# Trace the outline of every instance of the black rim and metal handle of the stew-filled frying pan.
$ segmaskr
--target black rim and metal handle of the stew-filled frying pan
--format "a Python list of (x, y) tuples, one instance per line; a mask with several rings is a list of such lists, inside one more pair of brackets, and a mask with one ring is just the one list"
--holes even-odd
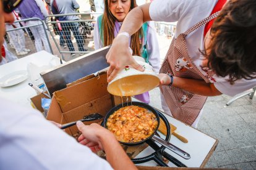
[(142, 102), (123, 103), (123, 104), (117, 105), (116, 107), (113, 107), (111, 110), (108, 111), (108, 113), (106, 114), (106, 116), (103, 120), (103, 126), (106, 129), (108, 129), (108, 126), (106, 126), (106, 123), (108, 121), (109, 116), (112, 115), (115, 111), (119, 110), (119, 108), (122, 108), (123, 105), (124, 106), (135, 105), (135, 106), (143, 107), (143, 108), (146, 108), (147, 110), (150, 110), (156, 116), (156, 120), (158, 121), (158, 125), (156, 126), (156, 129), (153, 132), (153, 134), (151, 134), (151, 136), (149, 136), (147, 139), (141, 140), (139, 142), (131, 142), (131, 143), (119, 141), (121, 144), (124, 144), (124, 145), (140, 145), (140, 144), (143, 144), (144, 142), (147, 142), (147, 140), (152, 139), (155, 142), (158, 142), (159, 144), (168, 148), (172, 152), (176, 153), (177, 155), (181, 156), (182, 158), (184, 158), (186, 160), (190, 159), (189, 153), (184, 152), (180, 148), (177, 148), (173, 144), (170, 144), (168, 141), (166, 141), (166, 140), (164, 140), (161, 137), (156, 135), (157, 134), (156, 131), (157, 131), (159, 125), (160, 125), (160, 117), (159, 117), (158, 113), (156, 112), (156, 110), (154, 108), (152, 108), (150, 105), (146, 104), (146, 103), (142, 103)]

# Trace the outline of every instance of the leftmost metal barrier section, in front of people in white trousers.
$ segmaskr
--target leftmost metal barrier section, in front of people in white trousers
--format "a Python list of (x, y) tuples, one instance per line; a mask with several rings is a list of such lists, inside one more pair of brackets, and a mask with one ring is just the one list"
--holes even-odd
[(43, 49), (53, 54), (45, 23), (40, 18), (17, 20), (11, 25), (6, 23), (6, 33), (8, 50), (17, 57), (25, 57)]

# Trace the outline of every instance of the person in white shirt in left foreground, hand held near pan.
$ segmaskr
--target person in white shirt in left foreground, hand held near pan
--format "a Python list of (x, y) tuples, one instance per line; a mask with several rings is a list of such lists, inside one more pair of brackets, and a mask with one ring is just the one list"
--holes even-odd
[[(0, 46), (4, 22), (14, 22), (10, 13), (20, 1), (6, 2), (0, 0)], [(0, 108), (0, 169), (136, 169), (114, 134), (99, 124), (78, 121), (79, 144), (39, 111), (2, 98)], [(99, 149), (106, 160), (93, 153)]]

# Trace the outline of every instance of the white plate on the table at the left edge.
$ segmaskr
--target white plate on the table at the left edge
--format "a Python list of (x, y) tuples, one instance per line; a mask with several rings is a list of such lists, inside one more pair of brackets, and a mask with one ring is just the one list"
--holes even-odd
[(28, 78), (26, 70), (14, 71), (0, 78), (0, 87), (9, 87), (19, 84)]

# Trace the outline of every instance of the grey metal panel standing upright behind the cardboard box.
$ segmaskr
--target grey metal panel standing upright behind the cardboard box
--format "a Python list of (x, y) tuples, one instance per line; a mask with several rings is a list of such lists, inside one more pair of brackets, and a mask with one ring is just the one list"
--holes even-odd
[(109, 67), (106, 62), (109, 48), (110, 46), (98, 49), (40, 73), (49, 94), (53, 96), (53, 92), (66, 88), (66, 84)]

